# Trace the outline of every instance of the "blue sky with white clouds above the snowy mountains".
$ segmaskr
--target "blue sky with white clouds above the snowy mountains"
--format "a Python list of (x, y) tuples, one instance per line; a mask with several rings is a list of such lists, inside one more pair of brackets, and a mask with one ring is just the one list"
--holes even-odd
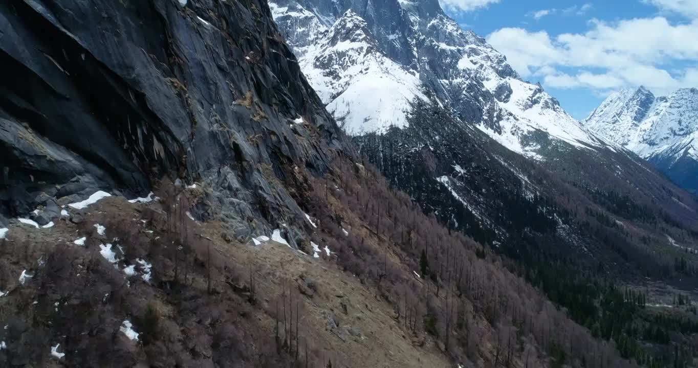
[(612, 91), (698, 87), (698, 0), (440, 0), (575, 118)]

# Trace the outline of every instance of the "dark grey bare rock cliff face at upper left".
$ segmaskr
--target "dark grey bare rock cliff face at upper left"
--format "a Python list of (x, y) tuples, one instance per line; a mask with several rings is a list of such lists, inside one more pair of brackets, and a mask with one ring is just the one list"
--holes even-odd
[(342, 144), (268, 9), (1, 3), (0, 213), (27, 213), (41, 193), (143, 193), (163, 174), (210, 184), (231, 219), (260, 202), (269, 222), (297, 212), (279, 182), (323, 171)]

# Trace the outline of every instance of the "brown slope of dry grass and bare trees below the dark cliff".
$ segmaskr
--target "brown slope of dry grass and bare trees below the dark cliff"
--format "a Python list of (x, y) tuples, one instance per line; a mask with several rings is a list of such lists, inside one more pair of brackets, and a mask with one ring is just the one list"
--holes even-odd
[[(200, 193), (168, 181), (158, 202), (111, 197), (77, 225), (12, 227), (1, 248), (0, 290), (8, 294), (0, 298), (0, 323), (8, 330), (0, 339), (8, 347), (0, 360), (73, 367), (630, 366), (489, 250), (422, 215), (372, 167), (337, 158), (325, 178), (303, 176), (297, 200), (317, 219), (311, 238), (332, 250), (322, 259), (274, 242), (224, 240), (223, 224), (187, 215)], [(72, 243), (81, 236), (84, 247)], [(116, 267), (100, 254), (106, 243), (114, 244)], [(131, 265), (142, 272), (138, 259), (152, 264), (149, 281), (124, 274)], [(20, 285), (24, 269), (34, 277)], [(137, 342), (119, 330), (126, 319), (141, 334)], [(64, 358), (50, 355), (55, 344)]]

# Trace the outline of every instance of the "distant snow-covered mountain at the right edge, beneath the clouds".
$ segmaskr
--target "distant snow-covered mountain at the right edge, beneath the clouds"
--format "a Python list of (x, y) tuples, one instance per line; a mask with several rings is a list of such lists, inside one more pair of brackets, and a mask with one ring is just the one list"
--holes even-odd
[(610, 95), (584, 121), (589, 130), (655, 164), (678, 185), (698, 191), (698, 90), (655, 97), (640, 87)]

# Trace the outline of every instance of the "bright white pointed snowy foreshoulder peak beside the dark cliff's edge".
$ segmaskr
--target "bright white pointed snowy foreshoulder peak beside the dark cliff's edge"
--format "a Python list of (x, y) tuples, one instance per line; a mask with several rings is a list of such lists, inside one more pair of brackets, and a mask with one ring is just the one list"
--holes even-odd
[[(293, 23), (288, 13), (279, 17)], [(389, 58), (369, 23), (351, 9), (313, 35), (312, 43), (296, 44), (304, 45), (295, 52), (306, 78), (350, 135), (404, 126), (410, 102), (424, 98), (417, 72)]]

